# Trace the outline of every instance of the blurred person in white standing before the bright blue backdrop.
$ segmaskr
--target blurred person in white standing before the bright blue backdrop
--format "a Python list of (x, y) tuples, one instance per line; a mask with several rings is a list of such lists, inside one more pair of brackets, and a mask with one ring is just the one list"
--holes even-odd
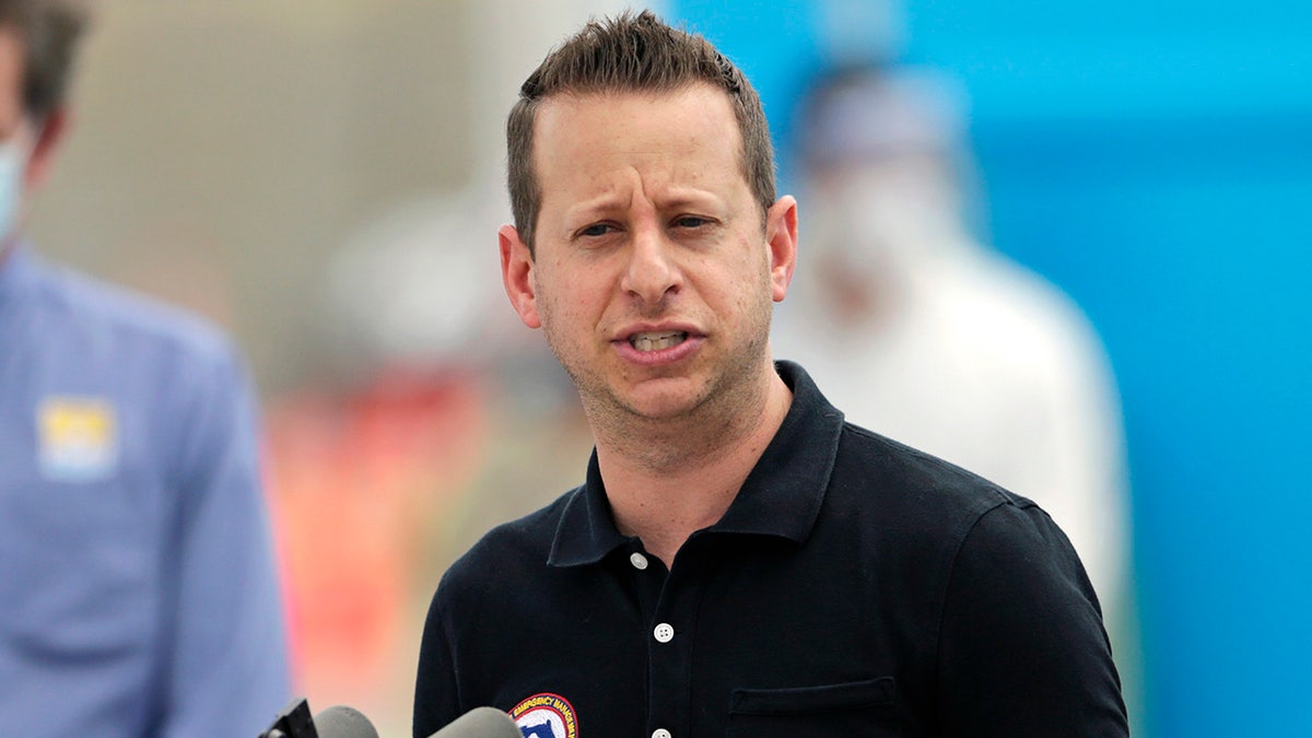
[(1130, 537), (1111, 372), (1064, 293), (972, 234), (963, 109), (949, 80), (909, 68), (845, 70), (808, 92), (808, 248), (777, 352), (850, 422), (1043, 506), (1115, 624)]

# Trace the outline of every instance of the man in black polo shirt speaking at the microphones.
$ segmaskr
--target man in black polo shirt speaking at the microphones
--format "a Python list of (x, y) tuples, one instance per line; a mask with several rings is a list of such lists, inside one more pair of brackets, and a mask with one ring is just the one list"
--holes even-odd
[(590, 22), (506, 131), (506, 294), (596, 450), (443, 576), (416, 738), (479, 705), (552, 738), (1127, 734), (1052, 520), (773, 360), (798, 204), (728, 59), (649, 13)]

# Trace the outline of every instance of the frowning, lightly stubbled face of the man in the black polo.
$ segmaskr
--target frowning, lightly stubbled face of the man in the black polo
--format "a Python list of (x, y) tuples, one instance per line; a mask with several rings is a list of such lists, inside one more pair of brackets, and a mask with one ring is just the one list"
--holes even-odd
[[(546, 102), (538, 123), (535, 306), (598, 443), (659, 467), (749, 433), (773, 378), (771, 256), (728, 97), (708, 85), (565, 97)], [(685, 215), (714, 223), (714, 235), (690, 236)], [(592, 223), (611, 235), (580, 246)], [(659, 299), (625, 286), (625, 274), (649, 274), (632, 271), (639, 238), (644, 259), (660, 260), (652, 268), (677, 272)], [(636, 324), (705, 335), (682, 360), (634, 364), (609, 341)]]

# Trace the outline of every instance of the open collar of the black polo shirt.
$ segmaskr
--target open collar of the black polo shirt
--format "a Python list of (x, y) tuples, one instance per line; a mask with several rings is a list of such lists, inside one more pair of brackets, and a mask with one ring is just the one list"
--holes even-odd
[[(792, 390), (779, 431), (743, 482), (724, 517), (707, 532), (777, 536), (802, 542), (815, 525), (829, 485), (842, 412), (829, 404), (802, 366), (777, 361)], [(597, 563), (632, 538), (615, 528), (593, 450), (584, 486), (565, 504), (551, 546), (551, 566)]]

